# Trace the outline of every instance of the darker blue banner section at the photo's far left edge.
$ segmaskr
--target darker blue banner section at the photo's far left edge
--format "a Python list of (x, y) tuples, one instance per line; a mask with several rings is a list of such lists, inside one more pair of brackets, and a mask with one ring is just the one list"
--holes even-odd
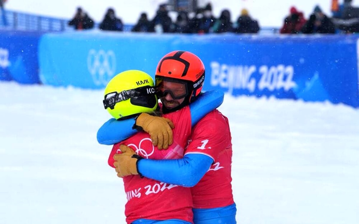
[(40, 83), (37, 50), (41, 35), (38, 32), (0, 31), (0, 80)]

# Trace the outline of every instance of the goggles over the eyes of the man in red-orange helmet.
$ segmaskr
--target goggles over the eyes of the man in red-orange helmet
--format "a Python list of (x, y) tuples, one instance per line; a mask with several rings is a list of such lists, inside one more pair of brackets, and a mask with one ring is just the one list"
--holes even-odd
[(156, 77), (155, 80), (158, 97), (165, 97), (170, 94), (172, 99), (182, 99), (188, 95), (186, 82), (162, 77)]

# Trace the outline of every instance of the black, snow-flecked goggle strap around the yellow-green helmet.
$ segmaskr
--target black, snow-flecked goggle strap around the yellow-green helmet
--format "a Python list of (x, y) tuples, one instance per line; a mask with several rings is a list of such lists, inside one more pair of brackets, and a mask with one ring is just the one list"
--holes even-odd
[(144, 96), (151, 96), (155, 95), (157, 90), (153, 86), (143, 86), (135, 89), (124, 90), (120, 93), (118, 92), (111, 92), (107, 93), (103, 100), (103, 106), (105, 109), (110, 108), (114, 109), (116, 103), (134, 98), (134, 97), (144, 97)]

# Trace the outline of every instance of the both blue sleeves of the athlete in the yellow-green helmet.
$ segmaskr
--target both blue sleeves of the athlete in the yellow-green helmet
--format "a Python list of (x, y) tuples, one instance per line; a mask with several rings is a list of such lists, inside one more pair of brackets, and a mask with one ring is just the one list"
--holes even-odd
[[(192, 126), (210, 111), (219, 107), (224, 98), (224, 93), (220, 90), (211, 90), (202, 93), (198, 99), (190, 104)], [(104, 123), (97, 131), (97, 141), (103, 145), (113, 145), (134, 135), (137, 130), (132, 129), (135, 124), (133, 119), (117, 121), (111, 118)]]

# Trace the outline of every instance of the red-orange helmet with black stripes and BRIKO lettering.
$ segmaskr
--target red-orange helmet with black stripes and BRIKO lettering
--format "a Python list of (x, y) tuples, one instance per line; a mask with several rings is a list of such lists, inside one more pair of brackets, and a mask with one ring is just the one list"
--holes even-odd
[[(186, 93), (184, 94), (177, 96), (171, 90), (166, 91), (171, 94), (173, 99), (186, 97), (180, 107), (195, 101), (201, 93), (204, 77), (205, 68), (201, 59), (191, 52), (181, 50), (164, 55), (157, 65), (155, 74), (156, 86), (159, 86), (162, 81), (185, 84)], [(159, 97), (161, 94), (163, 96), (164, 93), (159, 91)], [(175, 109), (177, 110), (179, 107)]]

